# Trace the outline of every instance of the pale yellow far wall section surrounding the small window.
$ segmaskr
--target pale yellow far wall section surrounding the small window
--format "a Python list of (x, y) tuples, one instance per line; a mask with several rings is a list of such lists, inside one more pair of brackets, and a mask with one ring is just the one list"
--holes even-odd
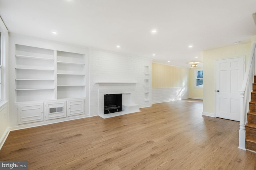
[(203, 89), (202, 88), (194, 88), (195, 86), (195, 80), (196, 80), (196, 73), (195, 70), (203, 69), (203, 67), (196, 67), (196, 68), (190, 68), (189, 69), (189, 97), (190, 98), (196, 98), (196, 99), (202, 99), (203, 98)]

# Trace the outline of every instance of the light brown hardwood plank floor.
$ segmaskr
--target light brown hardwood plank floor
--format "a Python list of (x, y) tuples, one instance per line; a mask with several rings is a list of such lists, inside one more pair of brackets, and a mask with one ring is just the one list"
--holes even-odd
[(256, 169), (256, 153), (238, 149), (239, 122), (202, 116), (201, 100), (140, 110), (11, 131), (0, 160), (29, 170)]

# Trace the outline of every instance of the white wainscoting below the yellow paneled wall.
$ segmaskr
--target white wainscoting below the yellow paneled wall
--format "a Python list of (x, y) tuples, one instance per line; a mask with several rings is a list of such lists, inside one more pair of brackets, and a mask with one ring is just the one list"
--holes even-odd
[(188, 87), (152, 88), (152, 104), (189, 98)]

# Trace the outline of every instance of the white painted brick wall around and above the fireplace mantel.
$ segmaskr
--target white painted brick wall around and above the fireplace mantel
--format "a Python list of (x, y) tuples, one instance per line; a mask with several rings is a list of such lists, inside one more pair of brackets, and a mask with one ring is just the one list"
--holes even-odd
[[(137, 82), (135, 104), (140, 107), (151, 106), (151, 60), (137, 56), (124, 55), (100, 49), (89, 49), (90, 63), (90, 116), (98, 115), (97, 82)], [(145, 66), (149, 76), (145, 76)], [(144, 79), (149, 78), (150, 101), (144, 101)]]

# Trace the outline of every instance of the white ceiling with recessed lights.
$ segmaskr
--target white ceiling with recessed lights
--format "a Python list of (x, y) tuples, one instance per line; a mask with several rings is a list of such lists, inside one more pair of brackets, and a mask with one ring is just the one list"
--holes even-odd
[(0, 0), (10, 33), (182, 67), (203, 62), (204, 50), (250, 41), (254, 12), (256, 0)]

